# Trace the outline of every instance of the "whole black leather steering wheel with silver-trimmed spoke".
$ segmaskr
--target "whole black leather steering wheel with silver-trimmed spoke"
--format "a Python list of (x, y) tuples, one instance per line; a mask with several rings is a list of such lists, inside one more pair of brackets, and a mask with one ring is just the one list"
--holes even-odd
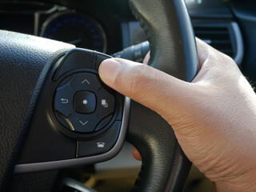
[[(191, 82), (198, 71), (198, 58), (185, 3), (181, 0), (130, 0), (130, 7), (150, 42), (149, 65)], [(70, 152), (74, 148), (80, 149), (74, 146), (76, 142), (70, 144), (75, 135), (69, 137), (65, 131), (63, 133), (55, 129), (54, 122), (49, 120), (50, 115), (41, 105), (42, 100), (52, 102), (48, 99), (51, 94), (45, 91), (46, 87), (48, 89), (56, 71), (59, 72), (58, 67), (62, 66), (60, 63), (63, 62), (64, 54), (64, 58), (73, 54), (72, 63), (87, 59), (87, 56), (84, 58), (81, 54), (88, 53), (96, 57), (98, 62), (108, 58), (94, 51), (72, 49), (74, 46), (63, 42), (0, 30), (1, 191), (10, 189), (14, 174), (78, 166), (111, 158), (121, 149), (125, 135), (126, 140), (142, 155), (142, 170), (135, 182), (134, 191), (182, 191), (190, 171), (190, 161), (178, 145), (174, 131), (160, 115), (137, 102), (129, 102), (129, 98), (125, 98), (118, 138), (114, 146), (106, 151), (106, 155), (92, 154), (81, 160), (75, 157), (75, 151)], [(69, 74), (69, 70), (67, 71)], [(69, 81), (66, 78), (62, 80)], [(52, 87), (48, 90), (51, 89)], [(38, 131), (32, 136), (31, 133), (34, 133), (37, 127), (42, 128), (46, 122), (48, 126), (44, 126), (42, 132)], [(127, 125), (129, 127), (126, 131)], [(58, 135), (57, 141), (53, 135)], [(102, 136), (99, 134), (97, 137)], [(64, 143), (62, 138), (70, 143)], [(27, 141), (30, 140), (34, 140), (35, 145), (28, 147)], [(46, 146), (48, 150), (44, 154), (34, 154), (34, 151)], [(102, 146), (103, 144), (98, 144), (98, 147)], [(58, 153), (48, 152), (54, 149), (65, 153), (62, 153), (60, 158)], [(76, 161), (70, 161), (68, 153), (72, 153)], [(53, 157), (54, 155), (56, 157)], [(26, 163), (20, 165), (20, 159), (25, 156), (27, 159), (34, 159), (27, 161), (29, 166), (26, 166)], [(48, 157), (55, 158), (57, 163), (42, 162)], [(37, 164), (37, 161), (41, 161), (41, 164)]]

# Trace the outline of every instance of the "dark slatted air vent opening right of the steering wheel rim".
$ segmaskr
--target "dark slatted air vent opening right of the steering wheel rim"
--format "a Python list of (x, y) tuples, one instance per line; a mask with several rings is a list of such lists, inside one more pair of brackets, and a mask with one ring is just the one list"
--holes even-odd
[(194, 34), (216, 50), (234, 58), (235, 51), (230, 39), (228, 27), (219, 26), (194, 26)]

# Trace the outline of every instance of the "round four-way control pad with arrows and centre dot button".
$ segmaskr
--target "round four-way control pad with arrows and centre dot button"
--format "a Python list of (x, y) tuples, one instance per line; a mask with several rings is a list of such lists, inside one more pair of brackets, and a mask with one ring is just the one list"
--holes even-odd
[(114, 118), (114, 91), (100, 81), (98, 74), (83, 71), (67, 75), (58, 83), (54, 111), (66, 130), (76, 134), (94, 134)]

